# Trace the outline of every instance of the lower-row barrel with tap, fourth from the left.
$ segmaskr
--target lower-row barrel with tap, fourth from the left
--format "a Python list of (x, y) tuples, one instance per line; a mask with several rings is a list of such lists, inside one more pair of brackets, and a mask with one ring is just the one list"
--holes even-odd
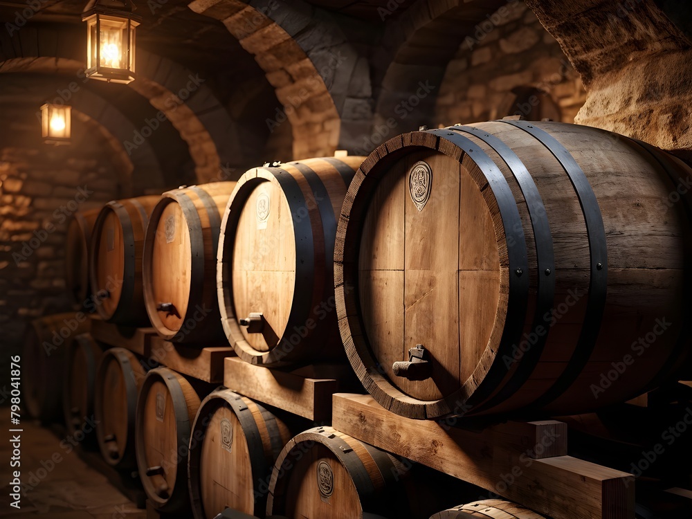
[(188, 445), (200, 399), (167, 367), (147, 373), (137, 401), (137, 466), (149, 501), (161, 512), (189, 513)]

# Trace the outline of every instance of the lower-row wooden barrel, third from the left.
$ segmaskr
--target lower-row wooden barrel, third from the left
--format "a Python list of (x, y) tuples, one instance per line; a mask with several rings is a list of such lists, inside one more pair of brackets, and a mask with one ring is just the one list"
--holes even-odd
[(145, 376), (140, 359), (125, 348), (107, 349), (96, 370), (96, 437), (104, 459), (118, 469), (137, 466), (134, 439), (137, 395)]

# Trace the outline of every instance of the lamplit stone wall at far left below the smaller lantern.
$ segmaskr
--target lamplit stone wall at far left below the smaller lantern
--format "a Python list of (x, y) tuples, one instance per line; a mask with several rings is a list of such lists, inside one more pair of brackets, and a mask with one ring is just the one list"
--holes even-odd
[(26, 120), (0, 142), (0, 370), (31, 320), (75, 308), (64, 275), (70, 216), (120, 197), (120, 163), (95, 126), (73, 118), (75, 142), (53, 146)]

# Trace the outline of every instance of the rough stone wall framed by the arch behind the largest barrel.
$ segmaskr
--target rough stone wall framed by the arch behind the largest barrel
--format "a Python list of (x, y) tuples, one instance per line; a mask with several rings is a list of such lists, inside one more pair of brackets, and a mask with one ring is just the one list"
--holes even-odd
[(574, 122), (586, 100), (579, 74), (523, 1), (510, 0), (476, 26), (449, 62), (435, 121), (502, 118)]

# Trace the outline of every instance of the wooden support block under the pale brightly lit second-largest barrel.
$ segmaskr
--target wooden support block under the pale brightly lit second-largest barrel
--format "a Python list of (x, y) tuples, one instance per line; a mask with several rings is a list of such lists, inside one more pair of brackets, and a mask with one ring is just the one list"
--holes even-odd
[(316, 422), (331, 420), (331, 395), (353, 377), (345, 365), (311, 365), (289, 373), (238, 357), (226, 358), (225, 368), (226, 388)]

